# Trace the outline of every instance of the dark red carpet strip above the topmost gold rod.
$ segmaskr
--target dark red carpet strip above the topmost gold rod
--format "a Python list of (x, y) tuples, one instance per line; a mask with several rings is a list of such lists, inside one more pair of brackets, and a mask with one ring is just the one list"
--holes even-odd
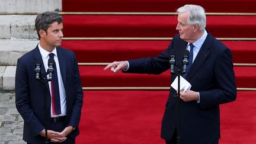
[(207, 12), (256, 12), (254, 0), (62, 0), (62, 9), (87, 12), (175, 12), (185, 4), (197, 4)]

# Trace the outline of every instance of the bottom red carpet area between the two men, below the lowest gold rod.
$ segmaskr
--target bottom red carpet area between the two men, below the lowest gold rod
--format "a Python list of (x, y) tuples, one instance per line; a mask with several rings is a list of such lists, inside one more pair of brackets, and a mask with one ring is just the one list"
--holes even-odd
[(162, 143), (168, 91), (85, 91), (77, 143)]

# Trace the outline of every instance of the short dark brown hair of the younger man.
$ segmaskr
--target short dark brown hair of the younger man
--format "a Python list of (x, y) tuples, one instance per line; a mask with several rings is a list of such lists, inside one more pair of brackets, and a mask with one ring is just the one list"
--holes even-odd
[(63, 18), (56, 12), (46, 11), (43, 14), (37, 15), (35, 20), (35, 26), (36, 26), (37, 35), (39, 36), (39, 40), (41, 38), (39, 34), (39, 30), (44, 30), (46, 31), (46, 34), (47, 34), (47, 29), (50, 27), (52, 23), (55, 23), (56, 21), (58, 24), (62, 23), (63, 21)]

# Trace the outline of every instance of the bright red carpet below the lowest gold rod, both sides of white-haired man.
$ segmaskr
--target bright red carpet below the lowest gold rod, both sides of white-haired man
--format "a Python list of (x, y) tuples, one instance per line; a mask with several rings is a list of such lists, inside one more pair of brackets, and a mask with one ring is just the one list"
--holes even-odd
[[(78, 144), (156, 144), (168, 91), (84, 91)], [(256, 142), (256, 92), (220, 107), (220, 144)]]

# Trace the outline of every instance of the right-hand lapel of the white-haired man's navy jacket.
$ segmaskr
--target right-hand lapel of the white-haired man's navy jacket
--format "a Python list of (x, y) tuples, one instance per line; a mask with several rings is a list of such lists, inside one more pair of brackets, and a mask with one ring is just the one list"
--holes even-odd
[(209, 49), (212, 46), (212, 39), (212, 36), (210, 36), (210, 34), (208, 33), (206, 40), (201, 46), (199, 53), (197, 53), (196, 59), (194, 60), (190, 71), (188, 72), (188, 80), (190, 80), (190, 78), (194, 75), (194, 73), (196, 73), (197, 69), (199, 69), (200, 65), (204, 62), (204, 60), (206, 60), (206, 58), (210, 55)]

